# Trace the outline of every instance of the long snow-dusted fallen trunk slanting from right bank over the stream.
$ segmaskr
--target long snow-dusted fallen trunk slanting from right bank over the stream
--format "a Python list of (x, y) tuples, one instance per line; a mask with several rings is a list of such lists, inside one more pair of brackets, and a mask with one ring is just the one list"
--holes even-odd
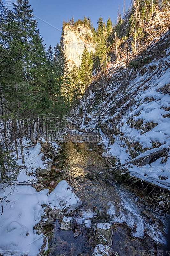
[[(156, 148), (154, 148), (154, 149), (156, 149)], [(142, 156), (139, 155), (139, 156), (135, 157), (134, 159), (131, 159), (131, 160), (125, 162), (124, 164), (120, 164), (120, 165), (118, 165), (118, 166), (112, 167), (111, 169), (109, 169), (109, 170), (107, 170), (107, 171), (105, 171), (105, 172), (113, 171), (113, 170), (115, 170), (115, 169), (117, 169), (117, 168), (120, 168), (120, 167), (126, 165), (126, 164), (130, 164), (130, 163), (133, 163), (133, 162), (142, 160), (142, 159), (144, 159), (144, 158), (146, 158), (146, 157), (149, 157), (149, 156), (154, 156), (154, 155), (157, 155), (157, 154), (164, 153), (164, 152), (166, 151), (166, 149), (165, 149), (165, 148), (164, 148), (164, 149), (159, 149), (159, 150), (157, 150), (157, 151), (151, 149), (151, 150), (148, 150), (148, 151), (150, 151), (150, 153), (148, 152), (147, 155), (144, 154), (144, 153), (147, 152), (147, 151), (145, 151), (144, 153), (141, 154)], [(99, 175), (101, 175), (101, 174), (103, 174), (103, 173), (105, 173), (105, 172), (100, 172)]]

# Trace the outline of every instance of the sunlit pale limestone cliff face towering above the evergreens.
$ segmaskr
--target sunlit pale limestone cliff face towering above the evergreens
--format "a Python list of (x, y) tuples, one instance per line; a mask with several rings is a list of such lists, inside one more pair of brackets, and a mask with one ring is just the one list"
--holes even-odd
[(95, 43), (92, 39), (87, 40), (86, 35), (92, 38), (92, 32), (89, 28), (78, 25), (77, 28), (73, 28), (70, 25), (66, 25), (63, 31), (62, 37), (62, 49), (64, 51), (66, 60), (68, 61), (68, 67), (71, 68), (76, 64), (79, 68), (81, 65), (81, 56), (84, 49), (90, 53), (95, 52)]

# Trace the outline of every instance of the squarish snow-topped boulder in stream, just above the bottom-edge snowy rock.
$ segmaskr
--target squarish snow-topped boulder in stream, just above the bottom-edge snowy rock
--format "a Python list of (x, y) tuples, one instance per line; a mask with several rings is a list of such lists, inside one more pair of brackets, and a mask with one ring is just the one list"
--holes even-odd
[(113, 228), (110, 223), (98, 223), (96, 226), (94, 245), (97, 244), (112, 244)]

